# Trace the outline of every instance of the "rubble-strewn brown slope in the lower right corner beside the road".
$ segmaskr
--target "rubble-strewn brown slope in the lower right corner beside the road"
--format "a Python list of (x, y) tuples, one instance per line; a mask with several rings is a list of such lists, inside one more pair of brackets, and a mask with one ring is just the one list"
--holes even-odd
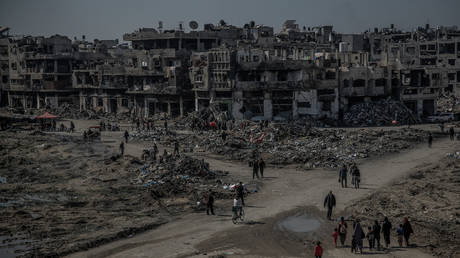
[[(427, 248), (436, 257), (458, 257), (459, 153), (448, 154), (437, 163), (418, 168), (395, 185), (357, 201), (347, 212), (364, 221), (364, 225), (387, 216), (393, 228), (407, 217), (415, 232), (413, 243)], [(397, 243), (396, 239), (392, 242)]]

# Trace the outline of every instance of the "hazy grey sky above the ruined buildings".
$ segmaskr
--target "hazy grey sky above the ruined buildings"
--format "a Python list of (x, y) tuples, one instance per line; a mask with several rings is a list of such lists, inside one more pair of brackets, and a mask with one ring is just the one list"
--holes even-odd
[(429, 21), (460, 25), (460, 0), (0, 0), (0, 25), (12, 34), (88, 39), (122, 38), (140, 27), (175, 28), (184, 21), (243, 25), (251, 20), (274, 26), (295, 19), (299, 25), (333, 25), (344, 33), (373, 27), (411, 30)]

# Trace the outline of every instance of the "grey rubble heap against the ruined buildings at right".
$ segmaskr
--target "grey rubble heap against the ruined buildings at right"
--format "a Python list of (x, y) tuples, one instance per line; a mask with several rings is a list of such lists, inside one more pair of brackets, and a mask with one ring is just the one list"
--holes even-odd
[(419, 119), (403, 103), (391, 99), (356, 104), (344, 114), (344, 123), (349, 126), (384, 126), (416, 124)]

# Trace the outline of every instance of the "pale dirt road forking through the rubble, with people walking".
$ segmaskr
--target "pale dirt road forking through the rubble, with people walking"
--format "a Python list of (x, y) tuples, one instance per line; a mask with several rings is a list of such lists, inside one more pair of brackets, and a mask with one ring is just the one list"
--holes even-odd
[[(140, 148), (128, 144), (126, 150), (128, 153), (137, 153)], [(208, 257), (212, 254), (224, 254), (229, 257), (304, 257), (311, 254), (311, 249), (303, 248), (302, 238), (290, 237), (289, 233), (281, 232), (274, 227), (283, 216), (301, 209), (324, 217), (322, 201), (329, 190), (336, 194), (338, 206), (334, 213), (338, 216), (337, 213), (353, 200), (390, 184), (419, 165), (439, 160), (453, 148), (454, 145), (450, 141), (439, 140), (431, 149), (421, 145), (407, 152), (367, 160), (360, 165), (362, 189), (359, 190), (341, 188), (337, 183), (337, 171), (267, 168), (266, 178), (261, 180), (262, 189), (256, 194), (251, 194), (246, 201), (246, 218), (250, 223), (233, 225), (230, 220), (231, 203), (218, 203), (217, 216), (184, 215), (183, 218), (155, 230), (86, 252), (75, 253), (70, 257)], [(204, 158), (213, 168), (227, 170), (232, 175), (242, 178), (244, 182), (252, 180), (247, 164)], [(322, 217), (318, 217), (322, 224), (331, 224)], [(314, 237), (323, 236), (318, 233)], [(350, 255), (348, 248), (325, 249), (326, 257)], [(390, 253), (373, 255), (415, 256), (430, 257), (417, 249), (395, 249)]]

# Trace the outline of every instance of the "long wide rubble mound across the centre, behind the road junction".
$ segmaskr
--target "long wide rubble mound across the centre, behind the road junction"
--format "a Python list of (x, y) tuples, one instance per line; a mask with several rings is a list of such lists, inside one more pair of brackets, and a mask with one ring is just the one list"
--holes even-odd
[(179, 135), (177, 139), (184, 149), (209, 151), (231, 160), (250, 161), (261, 154), (271, 164), (315, 168), (337, 167), (373, 154), (398, 152), (426, 138), (426, 132), (413, 128), (319, 129), (296, 123), (266, 127), (248, 121), (236, 122), (233, 127), (226, 131), (225, 141), (222, 131), (217, 130)]

